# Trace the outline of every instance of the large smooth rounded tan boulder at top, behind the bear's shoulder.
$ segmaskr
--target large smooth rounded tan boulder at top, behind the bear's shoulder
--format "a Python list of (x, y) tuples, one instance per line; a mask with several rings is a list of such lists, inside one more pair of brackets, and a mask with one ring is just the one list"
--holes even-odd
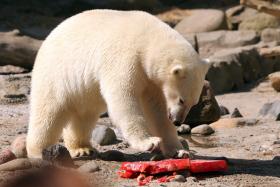
[(224, 12), (215, 9), (192, 10), (189, 16), (175, 26), (175, 30), (181, 34), (209, 32), (225, 28)]

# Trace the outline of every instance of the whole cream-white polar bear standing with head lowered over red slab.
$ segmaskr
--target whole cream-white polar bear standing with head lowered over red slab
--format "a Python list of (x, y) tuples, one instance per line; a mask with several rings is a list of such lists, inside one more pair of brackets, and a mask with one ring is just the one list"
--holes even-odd
[(181, 157), (172, 122), (202, 90), (208, 65), (175, 30), (142, 11), (90, 10), (66, 19), (34, 64), (27, 152), (40, 158), (63, 135), (72, 157), (90, 154), (99, 115), (140, 151)]

